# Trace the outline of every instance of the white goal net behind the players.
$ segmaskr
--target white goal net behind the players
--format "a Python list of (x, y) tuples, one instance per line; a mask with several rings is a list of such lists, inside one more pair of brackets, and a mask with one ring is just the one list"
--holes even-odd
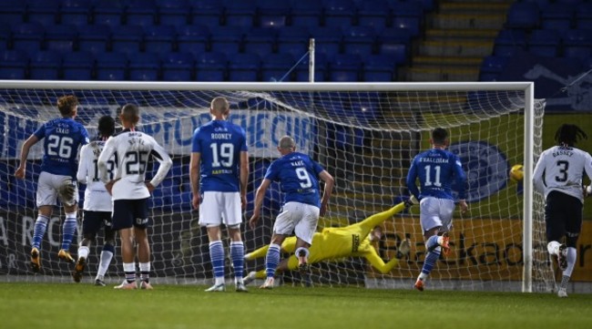
[[(470, 211), (454, 213), (453, 253), (440, 259), (428, 284), (434, 289), (548, 291), (553, 289), (554, 276), (546, 256), (542, 199), (533, 197), (531, 170), (526, 169), (524, 190), (522, 184), (508, 180), (514, 164), (532, 166), (532, 157), (540, 151), (544, 104), (532, 99), (531, 88), (527, 83), (0, 81), (4, 131), (0, 135), (0, 280), (71, 281), (72, 265), (58, 262), (56, 256), (63, 220), (57, 209), (41, 248), (42, 271), (34, 274), (29, 269), (42, 143), (30, 153), (26, 179), (16, 180), (14, 172), (24, 140), (58, 117), (57, 98), (74, 94), (81, 103), (77, 120), (91, 138), (99, 117), (117, 117), (117, 109), (126, 103), (140, 107), (139, 129), (154, 136), (174, 159), (167, 179), (150, 201), (151, 277), (156, 283), (208, 282), (212, 273), (207, 234), (190, 206), (189, 154), (194, 129), (210, 119), (210, 100), (223, 96), (231, 104), (230, 120), (248, 137), (247, 219), (255, 190), (270, 161), (279, 156), (277, 142), (285, 134), (336, 178), (329, 211), (319, 223), (322, 230), (362, 221), (406, 200), (404, 178), (410, 161), (429, 148), (431, 129), (442, 127), (449, 130), (449, 149), (467, 172)], [(80, 187), (82, 198), (84, 185)], [(246, 252), (270, 242), (280, 208), (281, 191), (272, 185), (258, 228), (251, 231), (243, 224)], [(364, 257), (340, 256), (314, 264), (309, 278), (284, 272), (283, 283), (410, 288), (424, 261), (418, 209), (396, 214), (380, 226), (383, 238), (373, 247), (384, 262), (397, 256), (396, 246), (402, 239), (412, 241), (411, 252), (393, 270), (378, 272)], [(80, 234), (78, 230), (78, 241)], [(76, 246), (73, 243), (71, 252), (76, 253)], [(97, 272), (101, 246), (99, 237), (91, 247), (83, 283), (91, 282)], [(246, 272), (263, 267), (263, 258), (252, 260), (246, 263)], [(229, 260), (229, 278), (231, 272)], [(107, 279), (115, 282), (122, 275), (117, 247)]]

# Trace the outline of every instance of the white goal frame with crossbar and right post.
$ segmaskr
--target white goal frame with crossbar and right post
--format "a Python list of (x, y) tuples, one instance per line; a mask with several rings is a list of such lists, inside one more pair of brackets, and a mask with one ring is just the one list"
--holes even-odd
[(57, 81), (0, 80), (0, 88), (92, 89), (92, 90), (249, 90), (249, 91), (522, 91), (524, 108), (524, 206), (522, 292), (533, 285), (533, 199), (532, 182), (535, 148), (535, 83), (526, 82), (151, 82), (151, 81)]

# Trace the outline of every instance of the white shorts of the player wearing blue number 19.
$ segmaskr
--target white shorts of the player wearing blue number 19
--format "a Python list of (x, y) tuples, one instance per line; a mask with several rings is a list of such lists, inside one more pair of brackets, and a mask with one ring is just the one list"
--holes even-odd
[(199, 225), (237, 226), (242, 222), (239, 192), (203, 192), (199, 204)]

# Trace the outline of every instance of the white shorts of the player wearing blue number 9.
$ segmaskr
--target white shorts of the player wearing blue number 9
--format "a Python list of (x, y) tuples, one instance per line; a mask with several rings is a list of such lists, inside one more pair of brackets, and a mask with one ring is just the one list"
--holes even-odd
[(312, 235), (317, 231), (319, 222), (319, 207), (301, 202), (288, 202), (283, 205), (280, 214), (273, 224), (275, 234), (290, 235), (309, 244), (312, 243)]

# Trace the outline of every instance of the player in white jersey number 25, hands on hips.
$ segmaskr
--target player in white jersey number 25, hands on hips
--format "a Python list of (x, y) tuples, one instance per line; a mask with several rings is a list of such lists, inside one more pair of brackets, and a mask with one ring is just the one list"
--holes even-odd
[[(107, 140), (98, 157), (98, 177), (113, 199), (113, 230), (121, 238), (121, 258), (126, 279), (115, 289), (137, 289), (136, 251), (132, 240), (138, 244), (140, 288), (152, 289), (149, 283), (150, 245), (148, 242), (148, 198), (150, 192), (167, 176), (173, 161), (157, 141), (136, 131), (139, 121), (137, 106), (127, 104), (119, 115), (124, 130)], [(154, 178), (146, 182), (148, 158), (160, 162)], [(112, 158), (116, 157), (116, 158)], [(114, 179), (109, 177), (109, 160), (117, 159)], [(133, 230), (132, 230), (133, 227)]]

